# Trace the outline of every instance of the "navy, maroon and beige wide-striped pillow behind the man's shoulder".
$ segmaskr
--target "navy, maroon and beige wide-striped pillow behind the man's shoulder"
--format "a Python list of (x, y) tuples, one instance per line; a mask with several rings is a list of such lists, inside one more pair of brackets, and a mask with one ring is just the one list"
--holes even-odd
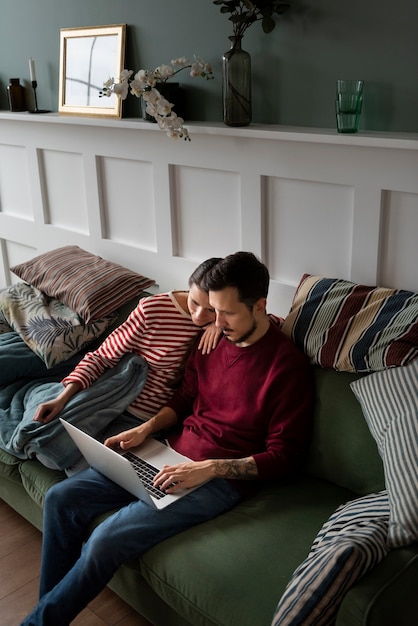
[(282, 330), (321, 367), (405, 365), (418, 356), (418, 294), (305, 274)]

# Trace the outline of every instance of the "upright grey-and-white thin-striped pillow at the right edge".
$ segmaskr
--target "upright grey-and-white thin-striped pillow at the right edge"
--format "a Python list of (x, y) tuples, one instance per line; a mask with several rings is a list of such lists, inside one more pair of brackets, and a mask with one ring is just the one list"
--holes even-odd
[(388, 546), (418, 541), (418, 360), (351, 383), (383, 459)]

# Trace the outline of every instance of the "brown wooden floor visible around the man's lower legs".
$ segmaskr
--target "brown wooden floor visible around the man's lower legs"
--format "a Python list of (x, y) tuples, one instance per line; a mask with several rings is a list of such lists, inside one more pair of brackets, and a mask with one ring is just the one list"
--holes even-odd
[[(19, 626), (38, 598), (42, 534), (0, 500), (0, 622)], [(105, 589), (71, 626), (152, 626)]]

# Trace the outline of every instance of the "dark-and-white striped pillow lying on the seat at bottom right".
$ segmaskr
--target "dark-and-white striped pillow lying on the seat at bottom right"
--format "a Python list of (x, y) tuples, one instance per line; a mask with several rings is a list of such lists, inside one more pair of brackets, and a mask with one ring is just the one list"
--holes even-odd
[(388, 553), (386, 491), (339, 507), (293, 573), (271, 626), (329, 626), (352, 585)]

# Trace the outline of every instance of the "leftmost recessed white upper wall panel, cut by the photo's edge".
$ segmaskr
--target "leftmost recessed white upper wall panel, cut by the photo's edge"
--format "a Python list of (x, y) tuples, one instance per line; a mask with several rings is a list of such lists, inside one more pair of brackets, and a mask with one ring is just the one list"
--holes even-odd
[(33, 220), (25, 146), (0, 144), (0, 211)]

